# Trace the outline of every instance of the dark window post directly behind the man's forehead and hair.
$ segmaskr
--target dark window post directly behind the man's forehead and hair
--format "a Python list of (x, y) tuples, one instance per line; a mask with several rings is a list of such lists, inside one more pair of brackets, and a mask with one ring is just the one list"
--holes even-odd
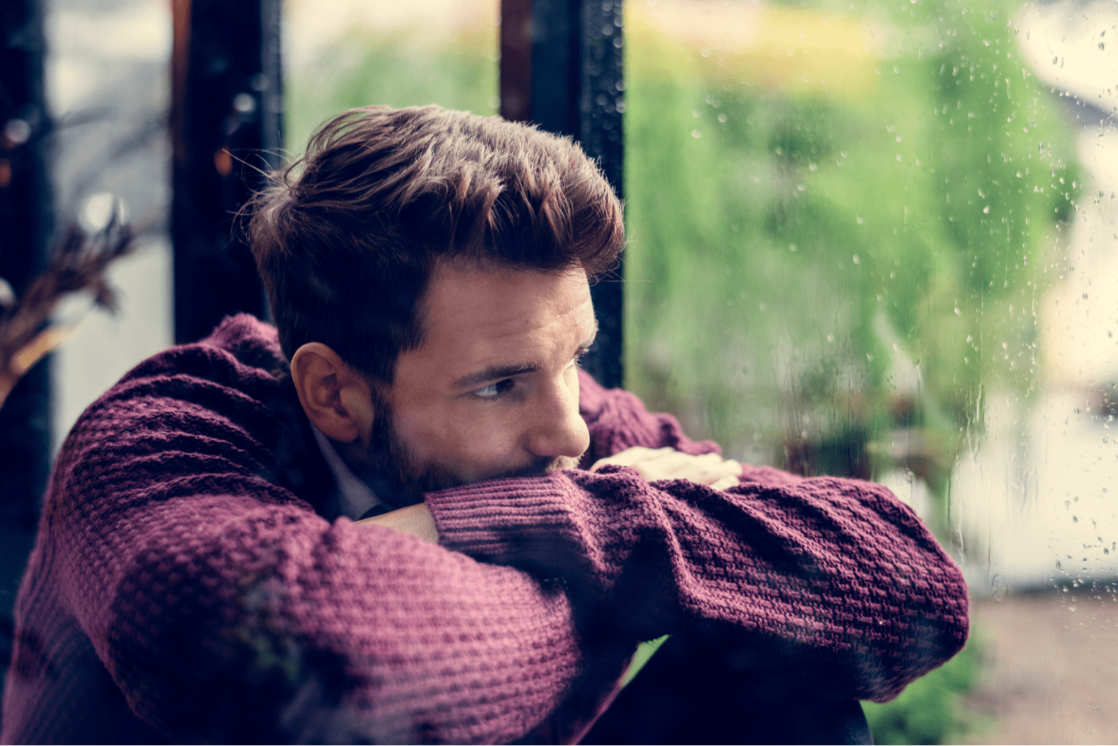
[[(625, 151), (622, 18), (620, 0), (501, 2), (501, 115), (578, 140), (618, 198)], [(604, 385), (619, 386), (620, 270), (590, 293), (599, 332), (584, 367)]]

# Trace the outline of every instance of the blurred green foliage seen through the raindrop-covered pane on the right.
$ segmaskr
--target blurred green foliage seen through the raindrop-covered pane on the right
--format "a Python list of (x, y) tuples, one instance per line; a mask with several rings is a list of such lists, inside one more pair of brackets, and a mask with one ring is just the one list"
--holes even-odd
[[(736, 456), (901, 466), (942, 495), (984, 386), (1034, 389), (1034, 312), (1079, 170), (1012, 4), (856, 6), (759, 17), (873, 19), (889, 41), (851, 95), (750, 76), (781, 60), (720, 55), (713, 23), (705, 49), (680, 44), (631, 3), (627, 375)], [(850, 66), (811, 54), (824, 78)], [(908, 451), (882, 440), (913, 429)]]

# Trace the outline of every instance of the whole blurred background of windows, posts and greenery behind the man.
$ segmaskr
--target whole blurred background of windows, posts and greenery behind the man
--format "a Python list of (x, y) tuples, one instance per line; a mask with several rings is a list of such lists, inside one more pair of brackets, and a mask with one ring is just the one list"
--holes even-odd
[(0, 410), (31, 449), (0, 453), (8, 644), (77, 415), (222, 309), (266, 313), (230, 230), (253, 169), (347, 108), (437, 103), (572, 134), (623, 191), (599, 375), (730, 458), (888, 485), (964, 567), (972, 642), (865, 706), (878, 743), (1118, 740), (1114, 2), (20, 3), (8, 49), (39, 50), (42, 87), (0, 90), (0, 202), (39, 222), (0, 228), (0, 276), (19, 295), (13, 257), (41, 268), (72, 221), (141, 236), (117, 313), (64, 303)]

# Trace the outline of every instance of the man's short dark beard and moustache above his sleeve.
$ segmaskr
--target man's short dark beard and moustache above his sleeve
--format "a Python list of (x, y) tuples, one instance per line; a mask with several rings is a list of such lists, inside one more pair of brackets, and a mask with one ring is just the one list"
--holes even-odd
[[(395, 509), (415, 505), (423, 501), (424, 492), (468, 482), (445, 465), (420, 461), (397, 433), (391, 405), (378, 394), (373, 394), (372, 403), (377, 415), (369, 438), (368, 462), (371, 469), (368, 477), (373, 492), (386, 506)], [(578, 458), (569, 456), (538, 458), (524, 467), (491, 475), (485, 479), (542, 477), (551, 471), (575, 469), (578, 463)]]

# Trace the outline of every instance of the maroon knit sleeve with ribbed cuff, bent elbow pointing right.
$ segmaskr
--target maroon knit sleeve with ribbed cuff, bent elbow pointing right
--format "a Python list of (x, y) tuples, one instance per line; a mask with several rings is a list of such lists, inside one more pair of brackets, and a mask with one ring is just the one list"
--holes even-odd
[[(444, 545), (561, 576), (612, 638), (697, 634), (837, 699), (889, 700), (967, 638), (958, 567), (869, 482), (717, 491), (635, 470), (556, 472), (427, 496)], [(593, 631), (589, 637), (596, 637)]]

